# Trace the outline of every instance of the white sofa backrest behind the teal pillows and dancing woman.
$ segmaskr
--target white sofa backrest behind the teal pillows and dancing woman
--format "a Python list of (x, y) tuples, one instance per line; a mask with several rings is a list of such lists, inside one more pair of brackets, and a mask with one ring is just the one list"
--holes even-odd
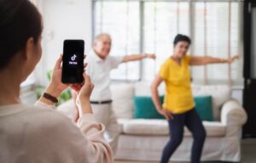
[[(131, 119), (133, 114), (133, 96), (151, 96), (150, 82), (113, 83), (113, 111), (118, 118)], [(159, 87), (159, 94), (166, 93), (165, 84)], [(192, 85), (194, 96), (211, 95), (214, 121), (220, 119), (220, 107), (231, 98), (231, 89), (226, 85)]]

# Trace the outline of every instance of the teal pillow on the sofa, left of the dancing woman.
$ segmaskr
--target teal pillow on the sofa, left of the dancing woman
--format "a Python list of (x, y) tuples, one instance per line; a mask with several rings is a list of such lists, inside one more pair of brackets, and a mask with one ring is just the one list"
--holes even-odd
[[(161, 104), (164, 101), (164, 96), (160, 96)], [(143, 119), (165, 119), (163, 115), (160, 115), (156, 108), (151, 97), (144, 96), (135, 96), (133, 98), (135, 110), (133, 112), (134, 118), (143, 118)]]

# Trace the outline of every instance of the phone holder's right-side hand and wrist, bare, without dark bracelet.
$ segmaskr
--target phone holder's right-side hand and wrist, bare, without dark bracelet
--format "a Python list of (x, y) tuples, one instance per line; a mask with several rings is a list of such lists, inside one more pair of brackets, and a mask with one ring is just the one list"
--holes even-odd
[(84, 85), (81, 87), (77, 99), (76, 104), (79, 108), (79, 117), (84, 114), (92, 113), (91, 106), (90, 106), (90, 94), (93, 90), (93, 84), (90, 82), (90, 76), (84, 76)]

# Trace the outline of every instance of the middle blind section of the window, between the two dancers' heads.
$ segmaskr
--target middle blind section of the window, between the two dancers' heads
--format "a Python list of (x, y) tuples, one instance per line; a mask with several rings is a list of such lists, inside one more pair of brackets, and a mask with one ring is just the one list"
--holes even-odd
[(189, 35), (189, 3), (146, 2), (143, 16), (143, 51), (157, 55), (155, 61), (143, 61), (143, 79), (150, 81), (172, 54), (177, 33)]

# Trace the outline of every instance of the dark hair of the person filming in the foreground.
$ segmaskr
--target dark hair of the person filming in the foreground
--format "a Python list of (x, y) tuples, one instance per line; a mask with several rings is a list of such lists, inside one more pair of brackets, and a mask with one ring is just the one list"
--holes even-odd
[(23, 50), (28, 38), (35, 43), (43, 30), (41, 14), (28, 0), (0, 1), (0, 70), (15, 53)]

